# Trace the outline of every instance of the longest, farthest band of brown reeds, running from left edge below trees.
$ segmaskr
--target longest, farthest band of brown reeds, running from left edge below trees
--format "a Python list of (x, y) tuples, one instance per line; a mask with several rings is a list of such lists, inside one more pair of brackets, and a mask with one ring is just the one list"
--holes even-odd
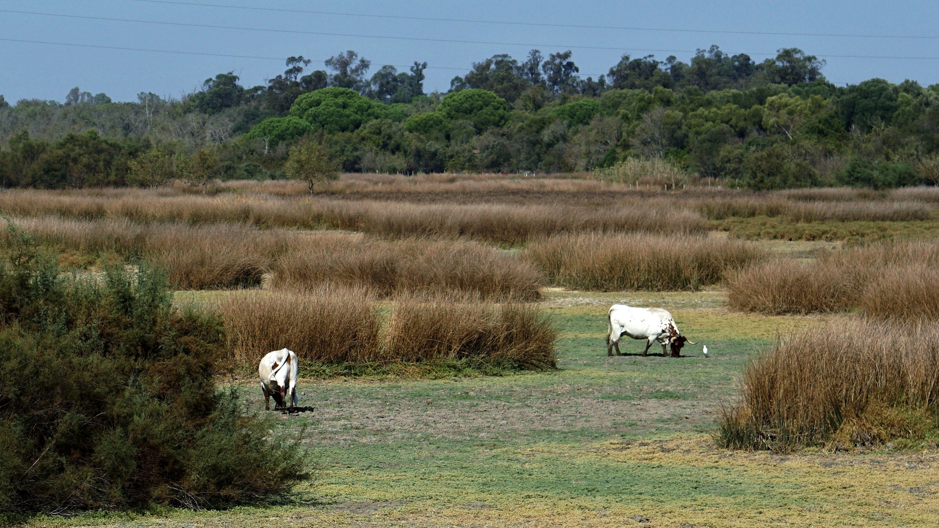
[(586, 208), (411, 204), (269, 195), (163, 195), (131, 193), (53, 194), (10, 191), (0, 194), (0, 210), (16, 216), (57, 215), (85, 220), (211, 224), (265, 227), (332, 227), (388, 238), (471, 237), (522, 243), (538, 236), (575, 231), (650, 231), (702, 233), (707, 224), (690, 210), (637, 204)]

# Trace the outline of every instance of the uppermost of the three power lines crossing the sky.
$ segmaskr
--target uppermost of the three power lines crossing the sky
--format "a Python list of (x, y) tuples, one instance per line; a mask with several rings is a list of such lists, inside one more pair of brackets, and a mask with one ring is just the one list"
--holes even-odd
[(632, 27), (618, 25), (585, 25), (574, 23), (529, 23), (529, 22), (504, 22), (490, 20), (472, 20), (472, 19), (447, 19), (431, 17), (406, 17), (401, 15), (372, 15), (362, 13), (343, 13), (337, 11), (313, 11), (307, 9), (284, 9), (284, 8), (250, 8), (245, 6), (229, 6), (224, 4), (203, 4), (196, 2), (174, 2), (171, 0), (133, 0), (135, 2), (146, 2), (149, 4), (174, 4), (177, 6), (195, 6), (202, 8), (229, 8), (229, 9), (248, 9), (254, 11), (274, 11), (283, 13), (305, 13), (315, 15), (337, 15), (346, 17), (364, 17), (378, 19), (397, 19), (397, 20), (421, 20), (428, 22), (458, 22), (458, 23), (493, 23), (502, 25), (530, 25), (535, 27), (573, 27), (581, 29), (622, 29), (627, 31), (659, 31), (674, 33), (716, 33), (723, 35), (778, 35), (788, 37), (849, 37), (858, 39), (939, 39), (939, 37), (920, 36), (920, 35), (854, 35), (844, 33), (793, 33), (777, 31), (726, 31), (712, 29), (671, 29), (662, 27)]

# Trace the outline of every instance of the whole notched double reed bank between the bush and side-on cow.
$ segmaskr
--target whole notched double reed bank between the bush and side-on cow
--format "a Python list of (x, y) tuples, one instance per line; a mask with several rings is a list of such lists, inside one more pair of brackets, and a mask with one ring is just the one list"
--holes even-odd
[(469, 360), (545, 369), (556, 363), (556, 332), (538, 308), (527, 304), (405, 295), (383, 318), (367, 290), (328, 286), (304, 292), (239, 292), (217, 309), (230, 360), (242, 367), (285, 347), (301, 360), (323, 364)]

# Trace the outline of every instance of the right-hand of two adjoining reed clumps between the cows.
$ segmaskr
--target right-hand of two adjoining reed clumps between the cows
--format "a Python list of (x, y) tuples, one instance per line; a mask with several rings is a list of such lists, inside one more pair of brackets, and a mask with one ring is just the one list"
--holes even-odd
[(408, 362), (469, 360), (548, 369), (557, 365), (556, 337), (550, 321), (531, 305), (410, 295), (395, 303), (386, 355)]

